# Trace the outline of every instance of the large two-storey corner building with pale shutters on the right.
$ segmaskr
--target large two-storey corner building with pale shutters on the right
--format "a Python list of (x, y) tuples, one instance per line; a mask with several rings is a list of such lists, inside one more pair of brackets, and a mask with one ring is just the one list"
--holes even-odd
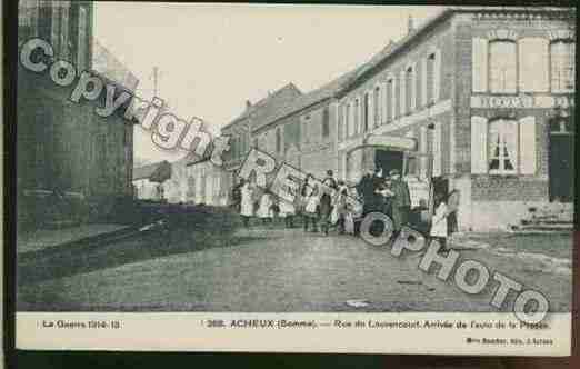
[[(569, 9), (448, 8), (376, 54), (339, 96), (340, 176), (402, 169), (460, 192), (460, 229), (491, 229), (573, 197), (574, 22)], [(437, 189), (436, 189), (437, 190)]]

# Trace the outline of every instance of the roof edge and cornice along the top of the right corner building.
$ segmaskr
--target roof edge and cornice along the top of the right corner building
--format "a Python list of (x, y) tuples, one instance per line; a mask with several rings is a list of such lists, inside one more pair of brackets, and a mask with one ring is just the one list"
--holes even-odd
[(423, 34), (426, 31), (438, 24), (439, 22), (446, 20), (449, 16), (456, 12), (501, 12), (501, 11), (567, 11), (566, 8), (557, 8), (557, 7), (446, 7), (434, 13), (432, 17), (428, 18), (420, 27), (416, 28), (413, 31), (408, 33), (401, 40), (397, 42), (389, 43), (381, 51), (372, 56), (372, 58), (359, 69), (356, 76), (350, 79), (348, 86), (343, 89), (349, 90), (357, 82), (367, 76), (369, 72), (374, 70), (376, 67), (384, 62), (387, 59), (393, 57), (401, 50), (404, 50), (411, 42), (413, 42), (420, 34)]

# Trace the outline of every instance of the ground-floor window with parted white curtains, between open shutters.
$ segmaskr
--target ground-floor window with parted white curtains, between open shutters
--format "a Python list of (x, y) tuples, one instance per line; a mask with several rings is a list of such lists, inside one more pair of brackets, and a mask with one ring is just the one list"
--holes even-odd
[(518, 168), (518, 122), (498, 119), (489, 124), (489, 172), (514, 173)]

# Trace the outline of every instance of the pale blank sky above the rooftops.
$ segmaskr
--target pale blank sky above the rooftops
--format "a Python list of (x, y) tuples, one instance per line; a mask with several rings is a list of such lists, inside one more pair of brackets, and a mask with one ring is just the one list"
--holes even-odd
[[(363, 63), (439, 7), (94, 2), (94, 37), (139, 79), (138, 96), (158, 96), (183, 120), (210, 131), (239, 116), (246, 100), (293, 82), (302, 92)], [(178, 160), (136, 127), (134, 157)]]

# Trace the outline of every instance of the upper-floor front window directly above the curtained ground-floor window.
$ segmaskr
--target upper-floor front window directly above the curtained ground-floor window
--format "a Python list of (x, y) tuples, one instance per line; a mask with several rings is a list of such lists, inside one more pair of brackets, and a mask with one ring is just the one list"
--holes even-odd
[(489, 86), (496, 93), (516, 93), (517, 44), (511, 40), (489, 43)]

